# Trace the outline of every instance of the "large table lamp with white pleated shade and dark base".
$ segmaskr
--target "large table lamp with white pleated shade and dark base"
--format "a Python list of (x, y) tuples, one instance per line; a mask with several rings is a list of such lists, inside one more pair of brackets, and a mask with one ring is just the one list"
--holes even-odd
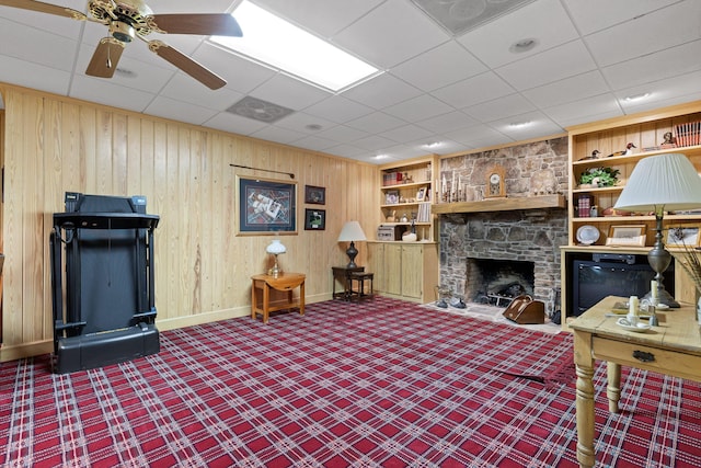
[[(701, 207), (701, 178), (696, 168), (681, 153), (641, 159), (613, 207), (629, 212), (655, 213), (655, 244), (653, 250), (647, 253), (647, 261), (657, 273), (655, 279), (659, 304), (679, 307), (679, 304), (665, 290), (663, 285), (663, 273), (671, 262), (671, 254), (665, 249), (662, 220), (665, 210)], [(654, 294), (651, 292), (648, 296), (654, 296)]]

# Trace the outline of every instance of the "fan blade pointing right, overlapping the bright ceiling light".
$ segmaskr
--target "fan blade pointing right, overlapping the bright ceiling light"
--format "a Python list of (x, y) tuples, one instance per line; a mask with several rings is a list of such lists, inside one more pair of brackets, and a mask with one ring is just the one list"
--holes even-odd
[(228, 13), (156, 14), (148, 18), (148, 23), (153, 30), (166, 34), (243, 35), (237, 20)]

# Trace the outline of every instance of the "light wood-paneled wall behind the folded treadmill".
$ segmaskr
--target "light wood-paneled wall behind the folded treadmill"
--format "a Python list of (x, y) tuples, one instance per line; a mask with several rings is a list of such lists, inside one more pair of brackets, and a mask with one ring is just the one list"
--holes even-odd
[[(330, 298), (331, 266), (347, 261), (336, 242), (343, 224), (359, 219), (369, 235), (380, 221), (374, 165), (13, 85), (0, 92), (0, 361), (51, 350), (48, 239), (67, 191), (146, 195), (147, 212), (161, 216), (154, 242), (161, 330), (250, 313), (250, 276), (271, 266), (271, 236), (235, 236), (235, 176), (272, 174), (230, 163), (296, 174), (298, 235), (283, 238), (288, 252), (280, 266), (307, 274), (308, 301)], [(303, 229), (306, 184), (326, 187), (325, 206), (307, 206), (326, 209), (324, 231)]]

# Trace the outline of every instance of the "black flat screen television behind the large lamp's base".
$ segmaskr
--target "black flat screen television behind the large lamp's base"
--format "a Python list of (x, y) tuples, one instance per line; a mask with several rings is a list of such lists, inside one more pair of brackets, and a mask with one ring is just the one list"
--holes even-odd
[[(575, 260), (572, 278), (572, 307), (574, 316), (589, 309), (607, 296), (637, 296), (642, 298), (650, 292), (650, 282), (655, 272), (650, 267), (647, 259), (635, 263), (597, 262), (593, 260)], [(665, 272), (665, 289), (674, 295), (674, 262)]]

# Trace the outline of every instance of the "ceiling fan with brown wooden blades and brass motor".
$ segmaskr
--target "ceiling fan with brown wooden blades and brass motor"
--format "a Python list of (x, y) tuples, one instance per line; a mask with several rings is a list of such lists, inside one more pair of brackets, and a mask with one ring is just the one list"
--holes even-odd
[(227, 82), (162, 41), (148, 41), (150, 33), (235, 36), (243, 34), (237, 20), (228, 13), (153, 14), (142, 0), (89, 0), (90, 15), (70, 8), (33, 0), (0, 0), (0, 5), (56, 14), (78, 21), (92, 21), (108, 27), (110, 35), (100, 39), (85, 73), (112, 78), (126, 44), (139, 38), (149, 49), (180, 68), (207, 88), (217, 90)]

